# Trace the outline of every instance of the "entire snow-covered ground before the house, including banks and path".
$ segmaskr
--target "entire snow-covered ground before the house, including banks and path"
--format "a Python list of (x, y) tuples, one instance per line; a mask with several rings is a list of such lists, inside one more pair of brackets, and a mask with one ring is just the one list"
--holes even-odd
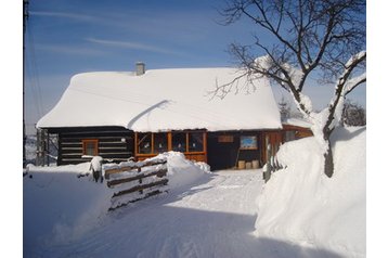
[[(104, 184), (76, 177), (88, 164), (29, 167), (24, 256), (365, 257), (365, 129), (335, 139), (331, 181), (310, 140), (283, 147), (288, 167), (268, 184), (259, 169), (207, 172), (172, 155), (168, 194), (109, 212)], [(287, 149), (305, 151), (295, 159)]]

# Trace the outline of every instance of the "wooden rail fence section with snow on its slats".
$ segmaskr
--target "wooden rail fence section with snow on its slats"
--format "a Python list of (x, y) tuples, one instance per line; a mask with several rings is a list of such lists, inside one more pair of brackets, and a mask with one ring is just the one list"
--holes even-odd
[(167, 159), (106, 164), (106, 185), (114, 189), (109, 210), (167, 192)]

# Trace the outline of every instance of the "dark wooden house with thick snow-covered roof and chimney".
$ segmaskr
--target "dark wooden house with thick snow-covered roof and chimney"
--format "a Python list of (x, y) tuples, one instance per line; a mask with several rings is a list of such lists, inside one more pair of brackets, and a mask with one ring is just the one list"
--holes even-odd
[[(270, 83), (211, 99), (216, 85), (233, 81), (234, 68), (96, 72), (75, 75), (60, 102), (38, 121), (59, 136), (57, 164), (100, 155), (115, 162), (166, 151), (206, 162), (211, 169), (237, 160), (262, 165), (269, 143), (282, 141), (281, 118)], [(235, 83), (246, 83), (245, 77)], [(276, 149), (276, 147), (275, 147)], [(257, 163), (255, 163), (257, 164)]]

